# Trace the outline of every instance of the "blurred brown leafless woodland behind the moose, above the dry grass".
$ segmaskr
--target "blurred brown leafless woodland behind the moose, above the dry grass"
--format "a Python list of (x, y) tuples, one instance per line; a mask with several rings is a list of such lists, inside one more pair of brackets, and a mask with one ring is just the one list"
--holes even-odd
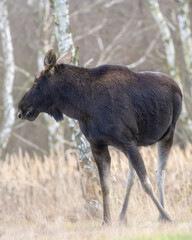
[[(50, 151), (50, 117), (41, 114), (35, 122), (17, 119), (17, 105), (28, 90), (43, 57), (50, 48), (58, 51), (55, 37), (54, 0), (2, 0), (7, 5), (8, 23), (13, 48), (14, 120), (6, 153), (24, 151), (40, 155)], [(155, 3), (159, 3), (157, 9)], [(156, 7), (155, 7), (156, 6)], [(73, 43), (79, 49), (79, 65), (127, 65), (135, 71), (160, 71), (177, 80), (185, 94), (183, 115), (177, 125), (175, 142), (184, 146), (192, 139), (192, 1), (187, 0), (71, 0), (69, 21)], [(2, 16), (0, 16), (1, 18)], [(182, 25), (183, 24), (183, 25)], [(1, 21), (1, 32), (5, 24)], [(191, 44), (191, 45), (190, 45)], [(190, 48), (191, 47), (191, 48)], [(6, 51), (0, 38), (0, 132), (5, 124), (4, 91), (10, 82), (6, 78)], [(58, 56), (60, 55), (58, 51)], [(7, 84), (7, 85), (6, 85)], [(8, 113), (7, 113), (8, 114)], [(52, 121), (52, 120), (51, 120)], [(69, 123), (61, 123), (61, 138), (52, 139), (74, 147)], [(76, 124), (73, 125), (76, 127)], [(55, 134), (56, 137), (56, 134)], [(2, 144), (2, 143), (1, 143)]]

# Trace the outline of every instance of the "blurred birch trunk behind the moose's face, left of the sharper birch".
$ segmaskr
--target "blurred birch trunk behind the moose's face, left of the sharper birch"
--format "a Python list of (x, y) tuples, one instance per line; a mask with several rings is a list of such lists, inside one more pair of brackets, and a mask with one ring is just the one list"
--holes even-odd
[[(37, 39), (38, 39), (38, 54), (37, 66), (41, 70), (45, 53), (52, 48), (54, 44), (54, 35), (52, 35), (53, 19), (51, 17), (50, 1), (49, 0), (30, 0), (28, 5), (33, 7), (33, 12), (37, 20)], [(38, 9), (38, 11), (37, 11)], [(48, 130), (48, 145), (49, 151), (56, 153), (64, 153), (64, 124), (56, 122), (48, 114), (44, 114), (44, 119)]]

